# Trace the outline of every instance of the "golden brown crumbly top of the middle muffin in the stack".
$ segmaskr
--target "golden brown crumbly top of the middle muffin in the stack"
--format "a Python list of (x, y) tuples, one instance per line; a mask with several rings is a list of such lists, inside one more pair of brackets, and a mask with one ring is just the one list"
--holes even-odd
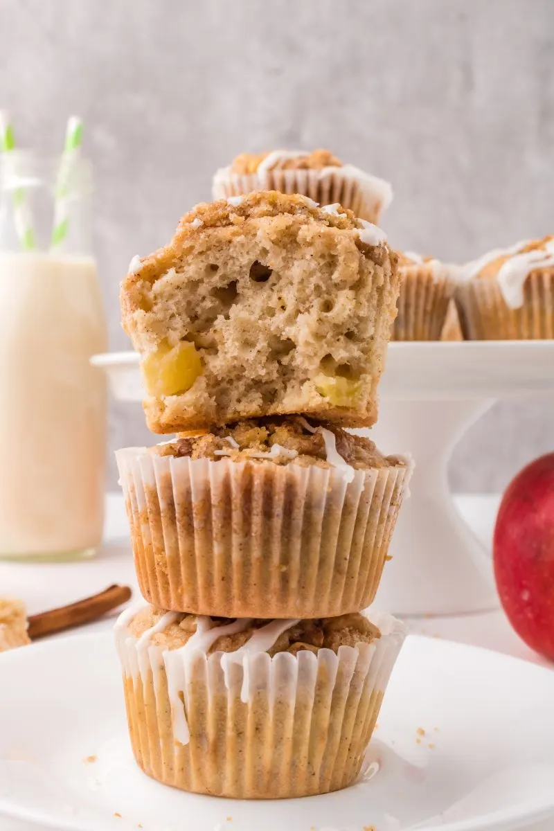
[[(213, 461), (230, 458), (233, 461), (251, 460), (259, 464), (295, 465), (309, 467), (316, 465), (331, 468), (326, 460), (326, 446), (320, 430), (311, 432), (319, 425), (307, 421), (302, 416), (273, 416), (265, 419), (248, 419), (235, 425), (213, 427), (203, 435), (179, 435), (170, 444), (164, 443), (152, 448), (152, 452), (161, 456), (190, 459), (209, 459)], [(375, 444), (365, 436), (346, 433), (341, 427), (322, 424), (322, 427), (335, 435), (336, 450), (347, 465), (356, 470), (385, 468), (403, 464), (396, 456), (384, 456)], [(232, 439), (230, 442), (228, 439)], [(234, 446), (238, 445), (238, 447)], [(292, 450), (297, 453), (294, 458), (287, 454), (276, 455), (273, 459), (258, 459), (252, 453), (268, 453), (273, 446)], [(223, 454), (222, 455), (222, 451)]]

